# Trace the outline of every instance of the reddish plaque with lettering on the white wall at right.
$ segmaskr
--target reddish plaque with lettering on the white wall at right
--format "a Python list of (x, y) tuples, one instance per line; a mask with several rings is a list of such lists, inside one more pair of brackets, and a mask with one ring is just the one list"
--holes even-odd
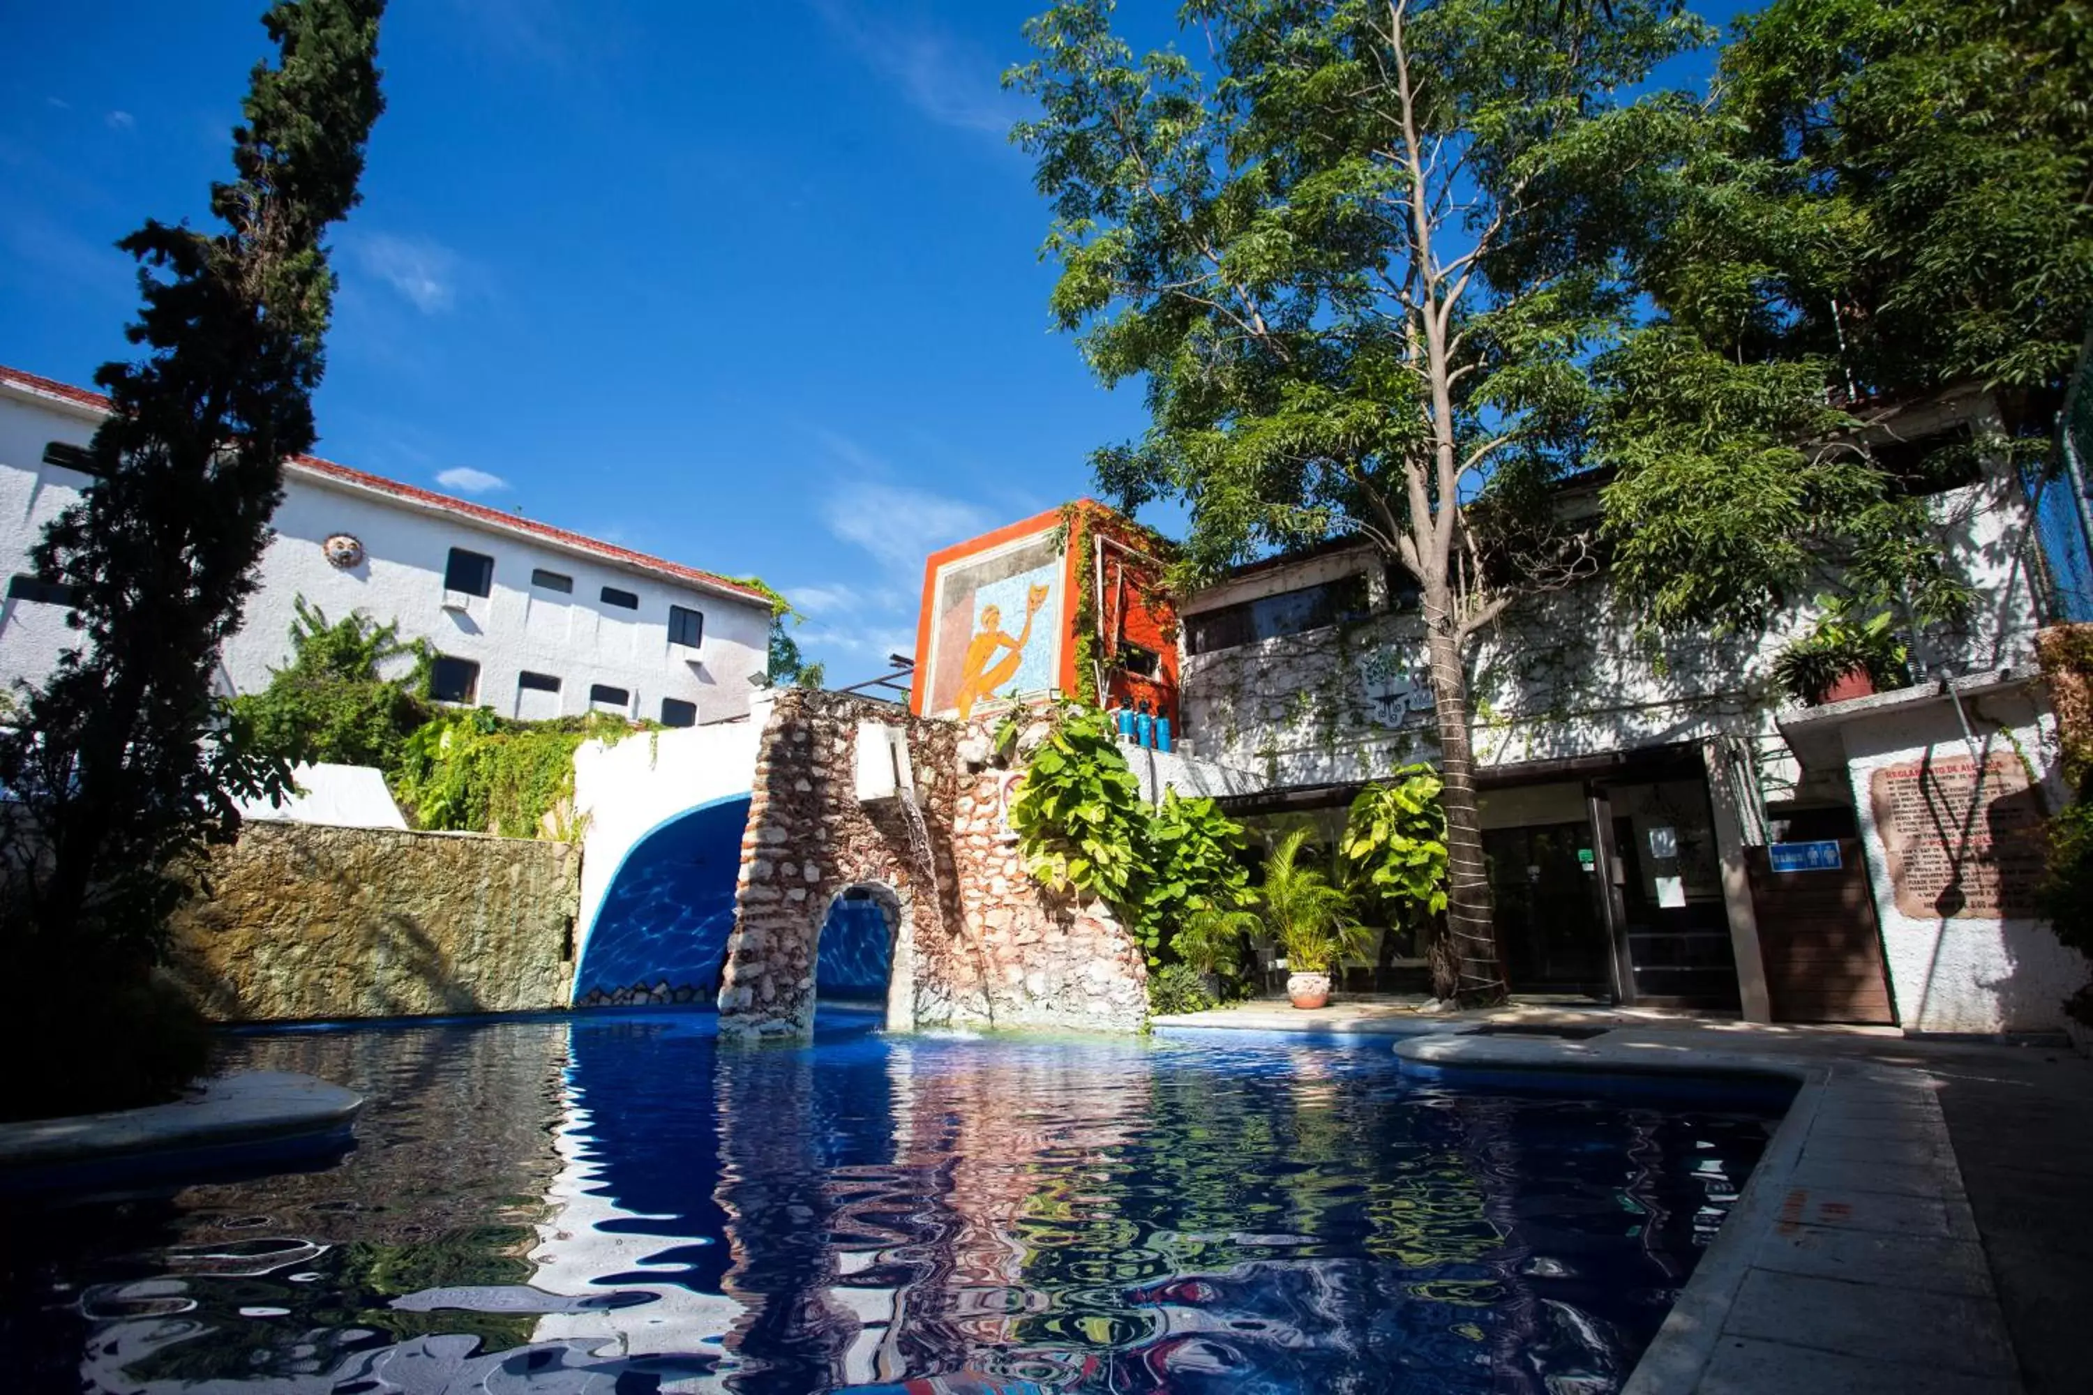
[(2032, 916), (2043, 809), (2018, 755), (1884, 765), (1869, 780), (1896, 910), (1919, 920)]

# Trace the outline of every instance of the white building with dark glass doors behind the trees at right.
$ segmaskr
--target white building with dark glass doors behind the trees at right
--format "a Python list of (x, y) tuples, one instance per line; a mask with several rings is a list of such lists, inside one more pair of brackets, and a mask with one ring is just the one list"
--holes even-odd
[[(1976, 596), (1923, 636), (1909, 688), (1796, 707), (1771, 669), (1810, 607), (1762, 638), (1670, 636), (1660, 659), (1603, 573), (1478, 636), (1482, 851), (1513, 991), (2060, 1025), (2087, 966), (2036, 918), (2036, 826), (2066, 791), (2032, 667), (2055, 619), (2034, 508), (2005, 460), (1917, 466), (2003, 425), (1978, 393), (1877, 425), (1877, 458)], [(1593, 517), (1595, 487), (1563, 510)], [(1178, 617), (1176, 736), (1256, 784), (1224, 793), (1237, 816), (1335, 830), (1367, 780), (1438, 759), (1415, 588), (1371, 546), (1243, 567)]]

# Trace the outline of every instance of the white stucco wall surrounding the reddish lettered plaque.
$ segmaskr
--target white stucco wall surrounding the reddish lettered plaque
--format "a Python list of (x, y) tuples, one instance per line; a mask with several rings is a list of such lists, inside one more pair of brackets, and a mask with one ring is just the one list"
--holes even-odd
[[(2026, 757), (2041, 776), (2043, 807), (2070, 799), (2057, 768), (2055, 717), (2026, 688), (1965, 699), (1978, 761)], [(2060, 1031), (2064, 1000), (2089, 964), (2034, 918), (1907, 916), (1896, 906), (1888, 851), (1869, 797), (1884, 765), (1932, 757), (1967, 761), (1970, 745), (1946, 699), (1898, 705), (1842, 728), (1867, 874), (1882, 922), (1890, 996), (1905, 1031)]]

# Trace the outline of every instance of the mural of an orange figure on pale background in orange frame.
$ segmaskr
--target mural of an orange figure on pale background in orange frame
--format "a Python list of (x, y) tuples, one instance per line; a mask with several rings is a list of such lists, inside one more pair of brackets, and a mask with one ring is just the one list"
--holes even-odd
[(948, 565), (933, 611), (929, 711), (965, 719), (977, 703), (1055, 686), (1061, 554), (1051, 533)]

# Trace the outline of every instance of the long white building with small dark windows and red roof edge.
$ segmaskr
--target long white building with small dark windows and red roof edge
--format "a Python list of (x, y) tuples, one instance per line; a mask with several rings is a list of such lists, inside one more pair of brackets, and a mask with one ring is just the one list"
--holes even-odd
[[(27, 558), (88, 485), (71, 466), (107, 410), (100, 393), (0, 368), (0, 684), (42, 680), (77, 644), (65, 596)], [(695, 567), (312, 456), (285, 464), (274, 529), (220, 657), (226, 692), (260, 690), (289, 661), (301, 596), (329, 619), (398, 621), (437, 653), (437, 699), (504, 717), (697, 726), (745, 717), (764, 686), (770, 602)]]

